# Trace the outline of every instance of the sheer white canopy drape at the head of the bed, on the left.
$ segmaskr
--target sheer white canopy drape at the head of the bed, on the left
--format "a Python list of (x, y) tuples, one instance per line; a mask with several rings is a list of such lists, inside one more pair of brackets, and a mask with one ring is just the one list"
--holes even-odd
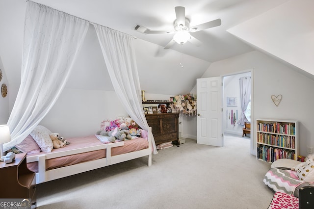
[(58, 99), (89, 22), (42, 4), (27, 1), (22, 77), (8, 125), (12, 141), (20, 143)]

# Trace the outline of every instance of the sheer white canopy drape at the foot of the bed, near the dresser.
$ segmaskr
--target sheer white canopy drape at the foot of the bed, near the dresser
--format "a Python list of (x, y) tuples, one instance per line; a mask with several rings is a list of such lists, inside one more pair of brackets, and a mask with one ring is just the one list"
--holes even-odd
[[(149, 126), (141, 103), (133, 38), (131, 35), (94, 25), (114, 90), (130, 117), (144, 130)], [(153, 138), (153, 153), (157, 154)]]

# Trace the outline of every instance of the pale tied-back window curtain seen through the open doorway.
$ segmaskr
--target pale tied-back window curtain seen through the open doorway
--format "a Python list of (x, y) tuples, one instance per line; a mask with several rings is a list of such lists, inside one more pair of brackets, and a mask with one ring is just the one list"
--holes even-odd
[(250, 102), (251, 97), (251, 77), (241, 77), (239, 78), (240, 82), (240, 100), (241, 100), (241, 116), (237, 124), (244, 125), (244, 122), (248, 122), (247, 117), (245, 116), (245, 110), (247, 105)]

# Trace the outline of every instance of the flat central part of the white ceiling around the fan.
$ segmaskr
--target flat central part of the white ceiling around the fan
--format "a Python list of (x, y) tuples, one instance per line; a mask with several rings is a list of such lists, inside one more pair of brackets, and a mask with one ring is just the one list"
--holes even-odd
[[(135, 25), (152, 30), (173, 30), (175, 6), (185, 7), (190, 26), (220, 18), (221, 26), (194, 32), (203, 42), (175, 44), (171, 49), (214, 62), (253, 51), (226, 30), (262, 14), (288, 0), (34, 0), (93, 23), (131, 34), (164, 47), (173, 34), (142, 34)], [(159, 52), (167, 53), (167, 52)]]

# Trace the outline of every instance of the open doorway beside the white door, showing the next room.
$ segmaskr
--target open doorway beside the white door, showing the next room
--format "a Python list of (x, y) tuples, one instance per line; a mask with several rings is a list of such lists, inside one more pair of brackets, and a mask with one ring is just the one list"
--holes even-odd
[[(222, 77), (223, 82), (223, 116), (222, 116), (222, 128), (224, 134), (231, 134), (242, 137), (244, 122), (252, 123), (252, 104), (253, 104), (253, 69), (238, 72), (235, 74), (225, 75)], [(240, 80), (251, 79), (248, 99), (246, 100), (246, 109), (244, 110), (244, 118), (242, 117), (243, 101), (243, 89), (240, 89)], [(243, 85), (242, 85), (243, 87)], [(244, 90), (245, 92), (245, 90)], [(242, 98), (241, 98), (242, 97)], [(253, 128), (253, 126), (251, 126)], [(251, 140), (250, 152), (253, 154), (253, 131), (251, 129), (250, 134), (246, 134), (243, 138)]]

